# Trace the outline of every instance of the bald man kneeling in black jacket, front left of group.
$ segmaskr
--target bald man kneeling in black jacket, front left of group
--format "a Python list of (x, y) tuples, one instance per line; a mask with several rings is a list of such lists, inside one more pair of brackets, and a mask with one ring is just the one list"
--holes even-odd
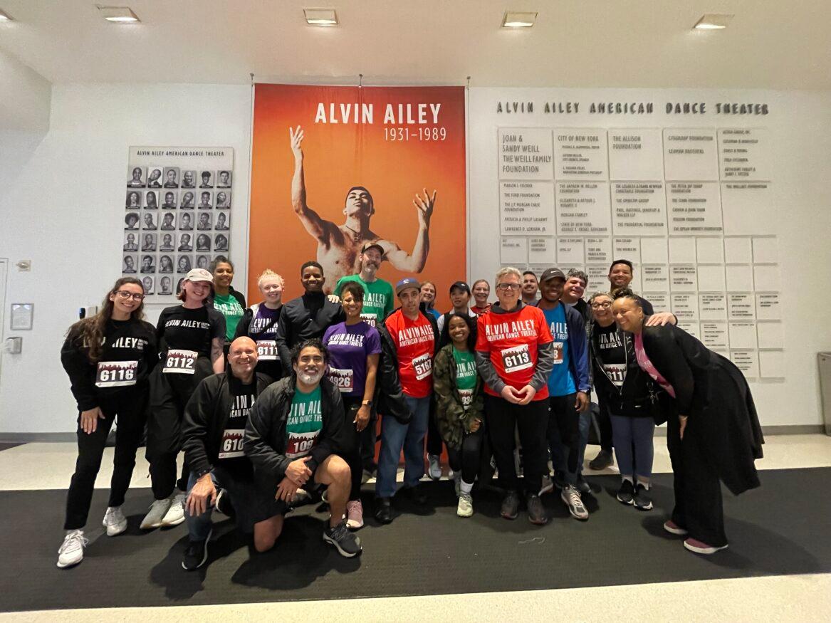
[[(253, 542), (274, 542), (283, 526), (282, 506), (258, 493), (251, 462), (243, 453), (248, 413), (272, 379), (255, 373), (257, 345), (249, 337), (231, 343), (229, 366), (199, 383), (184, 408), (182, 449), (191, 469), (185, 518), (189, 546), (182, 568), (194, 571), (208, 559), (212, 508), (230, 502), (237, 527)], [(230, 500), (229, 500), (230, 498)]]

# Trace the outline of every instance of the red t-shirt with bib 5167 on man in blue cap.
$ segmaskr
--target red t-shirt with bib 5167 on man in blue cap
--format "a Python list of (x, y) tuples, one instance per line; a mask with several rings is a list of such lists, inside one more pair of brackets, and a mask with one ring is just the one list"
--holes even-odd
[(401, 310), (385, 321), (398, 355), (401, 390), (411, 398), (425, 398), (433, 390), (433, 352), (435, 336), (430, 321), (419, 313), (410, 320)]

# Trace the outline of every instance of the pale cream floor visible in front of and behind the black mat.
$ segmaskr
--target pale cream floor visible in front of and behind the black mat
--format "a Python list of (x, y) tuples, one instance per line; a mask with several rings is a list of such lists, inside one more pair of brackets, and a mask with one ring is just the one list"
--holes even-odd
[[(594, 454), (589, 449), (588, 458)], [(74, 464), (72, 444), (25, 444), (0, 451), (0, 489), (66, 488)], [(107, 451), (98, 483), (106, 487), (111, 450)], [(761, 469), (831, 466), (831, 438), (824, 435), (769, 437)], [(669, 470), (662, 439), (656, 438), (656, 472)], [(606, 473), (614, 473), (614, 468)], [(133, 486), (148, 487), (146, 464), (140, 460)], [(829, 489), (831, 490), (831, 485)], [(827, 494), (818, 492), (818, 494)], [(810, 501), (806, 500), (806, 504)], [(101, 509), (99, 509), (101, 510)], [(804, 512), (794, 508), (794, 513)], [(92, 516), (96, 515), (93, 509)], [(829, 522), (831, 527), (831, 522)], [(3, 530), (13, 529), (10, 526)], [(56, 532), (59, 527), (44, 527)], [(831, 536), (829, 536), (831, 537)], [(692, 554), (690, 554), (692, 555)], [(587, 565), (602, 561), (587, 561)], [(644, 561), (648, 564), (648, 559)], [(67, 571), (71, 572), (71, 571)], [(447, 582), (452, 585), (453, 570)], [(5, 588), (3, 590), (6, 590)], [(95, 590), (79, 586), (79, 590)], [(281, 602), (234, 606), (168, 606), (95, 611), (47, 611), (0, 614), (0, 620), (88, 621), (254, 621), (277, 616), (283, 621), (321, 621), (347, 617), (358, 621), (520, 621), (554, 617), (560, 621), (828, 621), (831, 576), (767, 576), (745, 579), (603, 586), (557, 591), (469, 593), (425, 597)]]

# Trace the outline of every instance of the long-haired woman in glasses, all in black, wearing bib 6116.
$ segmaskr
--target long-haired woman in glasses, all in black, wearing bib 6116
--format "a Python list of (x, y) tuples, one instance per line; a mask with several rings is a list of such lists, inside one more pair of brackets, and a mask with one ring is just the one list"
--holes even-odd
[(143, 320), (144, 297), (138, 279), (121, 277), (107, 292), (101, 312), (72, 325), (61, 348), (61, 364), (78, 405), (78, 459), (66, 496), (66, 537), (57, 561), (61, 568), (83, 560), (83, 528), (116, 416), (116, 454), (103, 525), (110, 537), (127, 528), (121, 504), (145, 428), (148, 375), (159, 361), (155, 330)]

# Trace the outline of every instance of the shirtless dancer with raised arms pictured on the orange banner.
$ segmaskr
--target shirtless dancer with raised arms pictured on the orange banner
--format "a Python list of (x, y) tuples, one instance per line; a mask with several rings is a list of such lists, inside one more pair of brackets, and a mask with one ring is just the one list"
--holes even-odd
[(416, 194), (413, 205), (418, 214), (418, 233), (413, 252), (407, 253), (397, 243), (381, 238), (369, 228), (369, 220), (375, 213), (372, 195), (363, 186), (353, 186), (347, 193), (343, 213), (347, 219), (342, 225), (324, 220), (306, 204), (306, 181), (303, 177), (303, 130), (289, 128), (294, 154), (292, 178), (292, 207), (306, 231), (317, 239), (317, 261), (326, 275), (326, 290), (332, 292), (337, 280), (345, 275), (361, 272), (361, 248), (366, 243), (377, 243), (384, 249), (384, 258), (400, 271), (421, 272), (430, 252), (430, 217), (435, 207), (435, 190), (432, 196), (422, 189), (424, 196)]

